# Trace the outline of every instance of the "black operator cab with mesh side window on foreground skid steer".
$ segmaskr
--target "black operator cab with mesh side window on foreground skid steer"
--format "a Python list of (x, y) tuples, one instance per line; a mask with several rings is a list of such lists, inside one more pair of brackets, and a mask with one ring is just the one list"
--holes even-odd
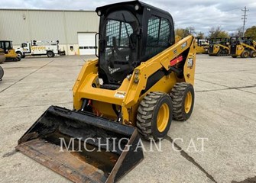
[(175, 43), (173, 18), (167, 11), (133, 1), (99, 7), (96, 12), (99, 78), (104, 84), (118, 88), (141, 62)]

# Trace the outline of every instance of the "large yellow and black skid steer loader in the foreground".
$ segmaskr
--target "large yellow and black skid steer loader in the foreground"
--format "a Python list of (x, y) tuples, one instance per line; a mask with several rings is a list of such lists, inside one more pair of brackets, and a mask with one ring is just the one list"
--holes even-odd
[(73, 110), (51, 106), (16, 146), (75, 182), (118, 181), (144, 157), (140, 136), (164, 138), (172, 119), (187, 120), (194, 103), (196, 40), (175, 43), (167, 11), (133, 1), (96, 12), (99, 59), (81, 69)]

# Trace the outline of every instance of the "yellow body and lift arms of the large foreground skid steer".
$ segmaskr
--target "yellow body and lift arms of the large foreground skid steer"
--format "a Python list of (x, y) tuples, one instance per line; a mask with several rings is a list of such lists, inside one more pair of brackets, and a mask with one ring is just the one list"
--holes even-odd
[[(169, 75), (164, 75), (153, 87), (141, 95), (147, 85), (148, 77), (158, 69), (163, 67), (168, 69), (170, 61), (187, 49), (190, 52), (184, 64), (183, 79), (178, 79), (177, 75), (171, 72)], [(174, 50), (177, 50), (176, 54), (173, 54)], [(193, 66), (187, 65), (189, 59), (190, 61), (193, 60)], [(173, 85), (177, 82), (188, 82), (193, 85), (196, 64), (196, 40), (192, 36), (188, 36), (157, 56), (147, 60), (147, 62), (141, 63), (141, 66), (134, 69), (131, 77), (125, 79), (117, 90), (99, 88), (97, 63), (97, 59), (87, 62), (79, 73), (73, 87), (74, 108), (76, 110), (81, 108), (83, 98), (87, 98), (92, 100), (92, 106), (96, 114), (116, 120), (115, 112), (111, 108), (112, 104), (116, 104), (122, 109), (122, 123), (135, 126), (138, 104), (147, 93), (156, 91), (170, 93)], [(93, 87), (93, 84), (96, 84), (97, 87)]]

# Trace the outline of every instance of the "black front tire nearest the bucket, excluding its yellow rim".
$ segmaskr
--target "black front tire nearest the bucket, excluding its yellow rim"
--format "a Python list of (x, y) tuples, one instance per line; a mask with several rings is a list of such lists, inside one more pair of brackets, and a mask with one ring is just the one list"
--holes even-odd
[[(165, 129), (160, 132), (157, 129), (157, 114), (163, 104), (167, 104), (169, 108), (169, 119)], [(172, 116), (173, 104), (170, 96), (162, 92), (150, 92), (143, 98), (138, 107), (138, 132), (145, 140), (150, 140), (152, 138), (154, 140), (159, 140), (159, 138), (164, 138), (170, 130)]]

